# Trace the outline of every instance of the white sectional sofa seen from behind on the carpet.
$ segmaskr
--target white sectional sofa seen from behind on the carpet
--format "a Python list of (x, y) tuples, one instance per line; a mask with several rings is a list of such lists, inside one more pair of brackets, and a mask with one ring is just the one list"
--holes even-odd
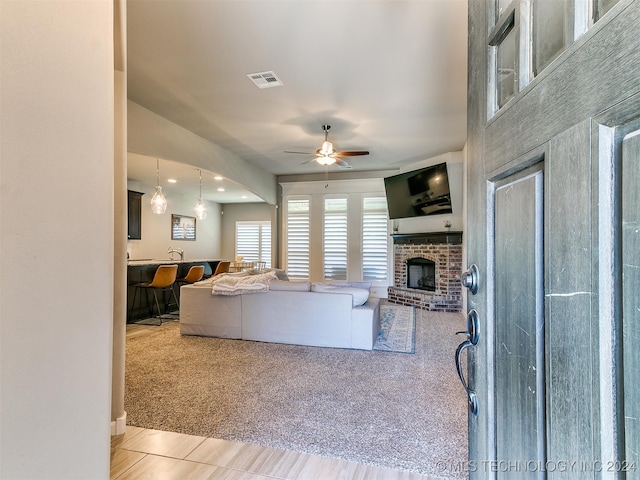
[(182, 335), (371, 350), (379, 329), (380, 300), (359, 288), (282, 280), (239, 295), (213, 295), (207, 282), (180, 288)]

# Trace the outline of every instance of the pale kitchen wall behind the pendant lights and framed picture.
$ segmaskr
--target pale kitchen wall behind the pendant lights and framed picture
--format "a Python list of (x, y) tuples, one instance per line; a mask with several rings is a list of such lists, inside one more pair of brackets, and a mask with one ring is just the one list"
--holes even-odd
[(221, 257), (221, 207), (215, 202), (205, 201), (207, 204), (207, 218), (196, 220), (196, 239), (171, 240), (171, 214), (195, 216), (193, 207), (197, 197), (183, 197), (163, 189), (167, 199), (167, 211), (162, 215), (151, 212), (151, 197), (155, 192), (153, 187), (129, 182), (128, 188), (136, 192), (143, 192), (142, 196), (142, 239), (129, 240), (127, 251), (131, 259), (152, 258), (156, 260), (168, 259), (169, 247), (184, 250), (185, 260), (212, 260)]

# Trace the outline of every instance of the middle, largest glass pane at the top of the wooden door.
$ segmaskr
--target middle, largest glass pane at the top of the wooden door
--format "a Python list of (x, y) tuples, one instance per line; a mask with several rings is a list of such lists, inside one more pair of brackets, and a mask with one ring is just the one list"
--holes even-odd
[(569, 5), (570, 2), (563, 0), (534, 0), (534, 75), (538, 75), (566, 49), (565, 25)]

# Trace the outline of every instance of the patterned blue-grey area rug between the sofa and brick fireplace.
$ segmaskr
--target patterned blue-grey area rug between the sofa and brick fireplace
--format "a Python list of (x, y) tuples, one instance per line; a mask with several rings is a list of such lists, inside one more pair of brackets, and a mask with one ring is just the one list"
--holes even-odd
[(380, 305), (380, 333), (374, 350), (415, 353), (416, 309), (404, 305)]

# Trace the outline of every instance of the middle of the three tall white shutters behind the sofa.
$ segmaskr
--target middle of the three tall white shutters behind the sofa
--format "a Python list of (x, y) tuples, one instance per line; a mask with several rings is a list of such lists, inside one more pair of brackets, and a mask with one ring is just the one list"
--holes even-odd
[(347, 279), (347, 199), (324, 199), (324, 279)]

